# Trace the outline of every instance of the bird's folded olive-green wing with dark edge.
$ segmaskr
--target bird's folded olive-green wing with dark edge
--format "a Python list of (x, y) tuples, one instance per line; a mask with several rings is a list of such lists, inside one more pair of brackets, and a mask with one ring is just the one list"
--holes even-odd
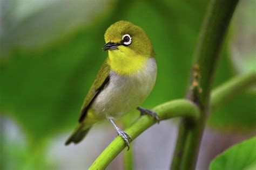
[(107, 63), (107, 60), (103, 63), (102, 67), (100, 67), (99, 72), (96, 76), (95, 81), (93, 82), (89, 92), (87, 93), (84, 104), (81, 108), (81, 113), (79, 117), (79, 122), (83, 122), (84, 118), (86, 117), (87, 110), (90, 108), (93, 100), (97, 97), (97, 95), (102, 91), (110, 80), (110, 66)]

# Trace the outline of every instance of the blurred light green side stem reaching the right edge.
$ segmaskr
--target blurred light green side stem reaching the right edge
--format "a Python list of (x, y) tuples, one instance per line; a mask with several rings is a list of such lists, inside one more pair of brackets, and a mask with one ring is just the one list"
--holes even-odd
[(215, 111), (234, 95), (253, 84), (256, 84), (256, 72), (237, 75), (233, 79), (221, 84), (211, 94), (211, 111)]

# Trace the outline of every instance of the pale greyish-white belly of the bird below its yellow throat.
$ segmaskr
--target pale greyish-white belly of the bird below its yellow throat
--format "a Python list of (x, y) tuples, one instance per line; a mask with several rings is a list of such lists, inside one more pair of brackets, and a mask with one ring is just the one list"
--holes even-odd
[(157, 77), (156, 60), (149, 58), (133, 75), (118, 75), (111, 70), (110, 82), (92, 103), (99, 116), (120, 118), (136, 109), (150, 94)]

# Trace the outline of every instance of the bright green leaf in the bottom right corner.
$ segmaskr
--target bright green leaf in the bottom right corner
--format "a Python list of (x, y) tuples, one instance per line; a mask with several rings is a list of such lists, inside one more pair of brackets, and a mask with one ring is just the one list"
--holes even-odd
[(210, 170), (252, 170), (256, 168), (256, 137), (234, 145), (218, 155)]

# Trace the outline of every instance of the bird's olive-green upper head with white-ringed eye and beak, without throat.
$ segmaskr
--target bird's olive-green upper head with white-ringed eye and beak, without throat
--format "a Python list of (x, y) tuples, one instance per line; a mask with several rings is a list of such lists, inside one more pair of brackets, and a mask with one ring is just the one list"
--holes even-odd
[(106, 44), (103, 51), (126, 53), (154, 57), (154, 50), (147, 34), (137, 25), (120, 20), (112, 24), (105, 32)]

